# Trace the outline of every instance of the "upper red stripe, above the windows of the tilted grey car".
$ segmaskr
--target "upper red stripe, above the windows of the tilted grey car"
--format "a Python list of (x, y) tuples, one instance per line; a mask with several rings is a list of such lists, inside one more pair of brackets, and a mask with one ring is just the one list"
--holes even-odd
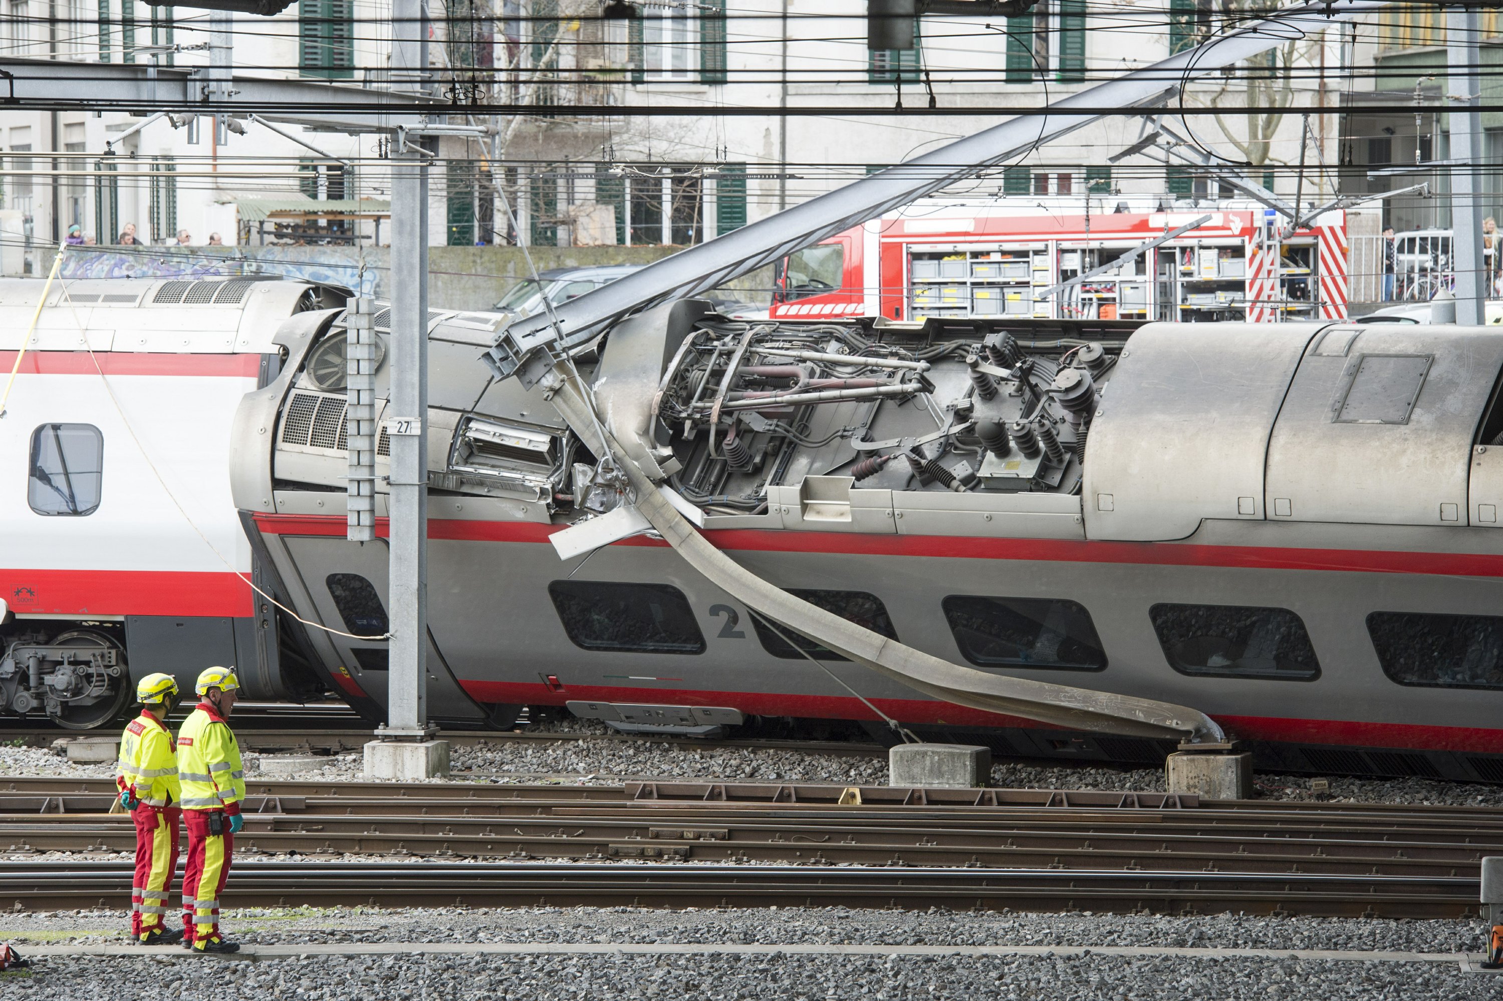
[[(257, 514), (269, 535), (344, 535), (338, 516)], [(428, 538), (472, 543), (546, 543), (562, 525), (535, 522), (461, 522), (430, 519)], [(385, 519), (376, 535), (385, 537)], [(1323, 570), (1345, 573), (1446, 574), (1503, 577), (1503, 556), (1416, 553), (1405, 550), (1293, 549), (1275, 546), (1202, 546), (1196, 543), (1087, 543), (963, 535), (863, 535), (779, 529), (714, 529), (705, 537), (723, 550), (827, 553), (846, 556), (938, 556), (944, 559), (1019, 559), (1037, 562), (1153, 564), (1168, 567), (1235, 567), (1247, 570)], [(613, 546), (667, 546), (637, 535)]]

